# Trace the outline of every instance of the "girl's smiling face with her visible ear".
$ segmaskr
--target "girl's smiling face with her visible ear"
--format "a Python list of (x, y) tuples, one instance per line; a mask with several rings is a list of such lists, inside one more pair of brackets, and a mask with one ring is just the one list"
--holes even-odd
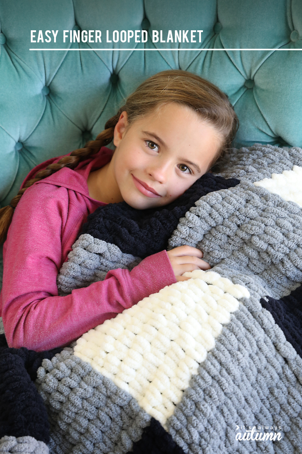
[(131, 125), (115, 126), (109, 168), (120, 199), (146, 209), (167, 205), (208, 171), (221, 144), (214, 127), (192, 109), (166, 104)]

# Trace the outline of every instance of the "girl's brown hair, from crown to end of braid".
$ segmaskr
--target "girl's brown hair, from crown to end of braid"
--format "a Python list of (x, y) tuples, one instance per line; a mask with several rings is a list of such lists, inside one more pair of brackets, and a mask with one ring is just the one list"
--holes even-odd
[(173, 69), (155, 74), (128, 96), (118, 113), (106, 122), (104, 131), (96, 137), (96, 140), (87, 142), (84, 148), (74, 150), (69, 156), (61, 158), (58, 163), (50, 164), (47, 168), (39, 170), (34, 178), (27, 181), (24, 188), (13, 197), (10, 205), (0, 209), (0, 242), (5, 238), (14, 214), (14, 207), (17, 206), (27, 188), (62, 167), (76, 168), (80, 161), (96, 154), (101, 147), (108, 145), (113, 140), (115, 125), (123, 111), (127, 112), (128, 123), (131, 124), (137, 118), (168, 103), (188, 106), (203, 120), (214, 126), (221, 137), (221, 148), (215, 161), (223, 157), (225, 152), (230, 149), (239, 121), (227, 95), (211, 82), (187, 71)]

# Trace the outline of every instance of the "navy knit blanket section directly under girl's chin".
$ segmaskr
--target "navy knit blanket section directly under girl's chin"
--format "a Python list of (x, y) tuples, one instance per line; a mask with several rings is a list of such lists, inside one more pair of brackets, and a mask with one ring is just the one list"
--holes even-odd
[(126, 202), (99, 207), (88, 216), (81, 233), (113, 243), (122, 252), (147, 257), (163, 251), (176, 229), (179, 218), (209, 192), (236, 186), (236, 178), (225, 179), (206, 173), (174, 202), (162, 208), (136, 210)]

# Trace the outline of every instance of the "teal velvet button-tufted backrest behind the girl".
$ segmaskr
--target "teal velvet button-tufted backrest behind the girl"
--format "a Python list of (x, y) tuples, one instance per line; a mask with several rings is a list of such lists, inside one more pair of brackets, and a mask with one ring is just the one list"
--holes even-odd
[[(142, 29), (145, 43), (112, 40), (114, 30)], [(58, 30), (56, 43), (46, 30)], [(63, 43), (63, 30), (101, 30), (102, 42), (70, 43), (68, 32)], [(166, 42), (153, 43), (153, 30)], [(203, 30), (201, 42), (197, 32), (196, 43), (167, 42), (168, 30), (173, 39), (189, 30), (189, 41)], [(126, 95), (165, 69), (228, 94), (236, 146), (302, 146), (302, 0), (0, 0), (0, 31), (1, 206), (31, 168), (95, 138)], [(63, 50), (29, 50), (41, 48)]]

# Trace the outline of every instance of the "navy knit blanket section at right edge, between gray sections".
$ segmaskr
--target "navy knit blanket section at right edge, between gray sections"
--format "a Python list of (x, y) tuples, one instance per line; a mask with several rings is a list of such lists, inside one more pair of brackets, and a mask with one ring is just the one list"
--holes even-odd
[(302, 357), (302, 286), (280, 300), (274, 300), (270, 296), (265, 298), (268, 301), (265, 301), (264, 298), (260, 300), (262, 307), (272, 314), (286, 340)]

